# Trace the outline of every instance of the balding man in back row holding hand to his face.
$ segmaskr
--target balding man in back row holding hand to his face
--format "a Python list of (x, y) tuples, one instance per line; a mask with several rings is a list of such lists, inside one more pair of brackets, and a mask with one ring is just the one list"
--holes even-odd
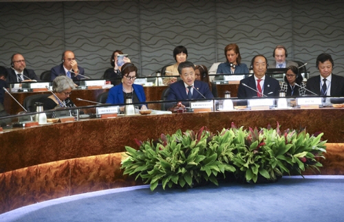
[(80, 80), (84, 78), (85, 71), (76, 63), (74, 53), (72, 51), (65, 51), (62, 54), (62, 63), (56, 67), (52, 67), (51, 80), (53, 81), (57, 76), (67, 76), (72, 80)]

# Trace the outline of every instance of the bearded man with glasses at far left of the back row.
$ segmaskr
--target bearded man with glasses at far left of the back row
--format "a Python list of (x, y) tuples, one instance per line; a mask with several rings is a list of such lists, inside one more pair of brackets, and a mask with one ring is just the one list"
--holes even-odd
[(25, 58), (21, 54), (13, 54), (11, 67), (7, 69), (7, 82), (30, 82), (39, 80), (32, 69), (26, 69)]

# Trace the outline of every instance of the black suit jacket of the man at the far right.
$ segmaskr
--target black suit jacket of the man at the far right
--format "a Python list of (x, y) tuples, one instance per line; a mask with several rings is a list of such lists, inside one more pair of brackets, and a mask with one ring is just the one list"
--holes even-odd
[[(320, 75), (309, 78), (306, 83), (306, 89), (320, 96), (320, 80)], [(305, 93), (313, 95), (309, 91)], [(344, 96), (344, 77), (332, 74), (330, 94), (331, 96)]]

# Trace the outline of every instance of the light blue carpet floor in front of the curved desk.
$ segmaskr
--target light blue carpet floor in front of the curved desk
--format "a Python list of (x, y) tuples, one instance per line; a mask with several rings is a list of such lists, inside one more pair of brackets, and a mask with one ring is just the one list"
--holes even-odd
[(12, 210), (0, 221), (344, 221), (344, 176), (102, 190)]

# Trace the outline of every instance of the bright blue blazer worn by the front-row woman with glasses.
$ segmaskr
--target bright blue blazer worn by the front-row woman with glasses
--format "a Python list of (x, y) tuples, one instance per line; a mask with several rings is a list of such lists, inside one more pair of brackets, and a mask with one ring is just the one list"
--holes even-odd
[[(140, 102), (146, 102), (146, 96), (144, 95), (142, 85), (133, 84), (133, 91), (136, 93), (136, 96), (138, 96), (138, 100)], [(107, 103), (111, 103), (111, 104), (124, 104), (125, 103), (122, 82), (120, 83), (120, 85), (116, 85), (109, 90), (109, 95), (107, 96)]]

